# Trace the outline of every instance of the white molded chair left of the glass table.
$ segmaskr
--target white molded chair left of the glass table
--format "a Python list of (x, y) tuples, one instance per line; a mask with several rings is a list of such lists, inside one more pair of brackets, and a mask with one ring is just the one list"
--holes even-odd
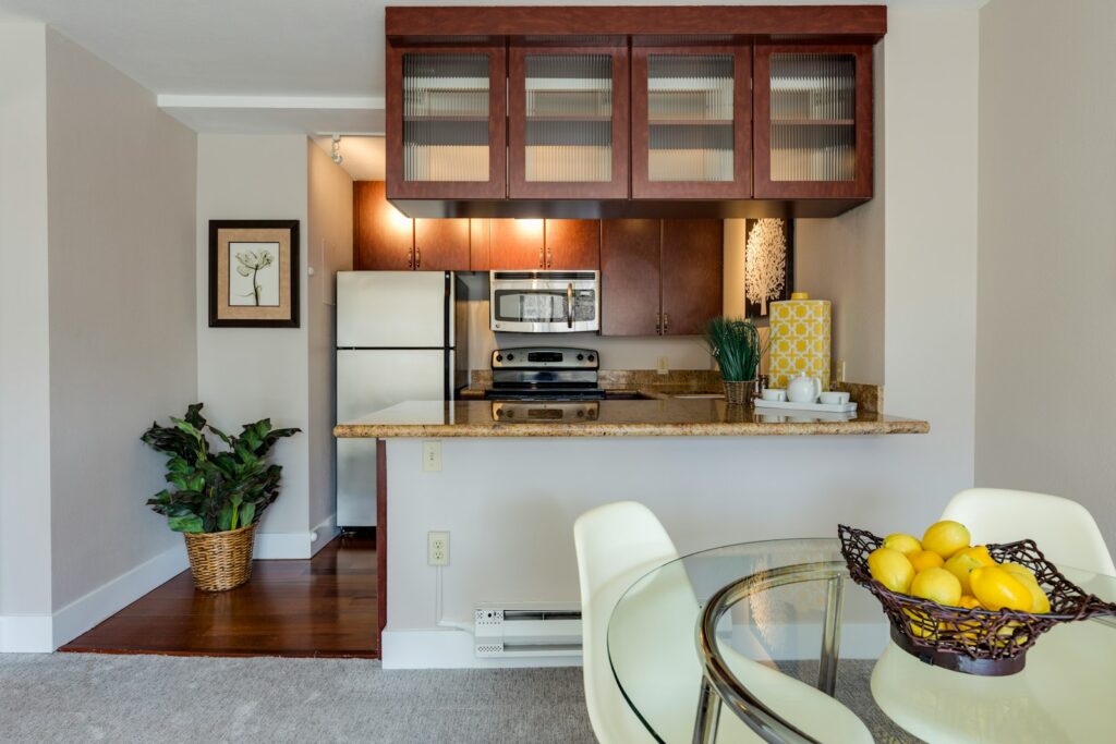
[[(603, 744), (654, 741), (624, 699), (608, 659), (608, 620), (624, 592), (648, 571), (675, 560), (679, 554), (666, 530), (643, 504), (632, 501), (599, 506), (574, 524), (578, 573), (581, 586), (585, 700), (593, 731)], [(681, 578), (677, 573), (674, 577)], [(701, 686), (701, 663), (695, 644), (698, 601), (687, 580), (648, 588), (633, 598), (638, 611), (656, 618), (654, 637), (625, 636), (625, 658), (638, 658), (643, 648), (653, 655), (653, 669), (668, 666), (668, 678), (654, 679), (641, 688), (643, 703), (656, 708), (658, 733), (668, 744), (690, 742)], [(648, 626), (651, 627), (651, 626)], [(670, 642), (664, 642), (670, 639)], [(731, 667), (750, 690), (758, 693), (777, 713), (789, 717), (821, 741), (870, 743), (872, 735), (859, 718), (840, 703), (762, 664), (724, 649)], [(662, 675), (660, 675), (662, 676)], [(646, 696), (654, 696), (650, 702)], [(676, 714), (675, 714), (676, 712)], [(723, 711), (718, 740), (761, 742), (739, 717)]]

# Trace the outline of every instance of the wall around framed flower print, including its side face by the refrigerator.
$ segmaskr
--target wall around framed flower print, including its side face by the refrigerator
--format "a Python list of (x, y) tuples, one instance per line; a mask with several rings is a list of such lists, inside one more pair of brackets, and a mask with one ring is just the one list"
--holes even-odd
[[(352, 184), (302, 135), (198, 137), (198, 398), (225, 431), (266, 417), (302, 429), (276, 446), (282, 491), (260, 522), (257, 558), (309, 558), (335, 529), (327, 302), (352, 261)], [(210, 220), (299, 221), (298, 328), (209, 327)]]

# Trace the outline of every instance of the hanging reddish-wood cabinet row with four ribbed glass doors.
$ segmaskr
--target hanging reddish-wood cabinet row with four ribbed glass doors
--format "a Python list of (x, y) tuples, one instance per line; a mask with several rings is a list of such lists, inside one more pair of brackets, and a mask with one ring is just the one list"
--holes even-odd
[(886, 13), (388, 8), (387, 197), (416, 218), (839, 214), (872, 197)]

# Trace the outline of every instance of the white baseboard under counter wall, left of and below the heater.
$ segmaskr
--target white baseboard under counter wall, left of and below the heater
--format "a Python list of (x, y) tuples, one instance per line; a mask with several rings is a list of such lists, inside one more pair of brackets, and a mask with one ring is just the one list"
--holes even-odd
[(463, 630), (392, 630), (381, 639), (385, 669), (468, 669), (581, 666), (580, 656), (478, 658), (473, 637)]

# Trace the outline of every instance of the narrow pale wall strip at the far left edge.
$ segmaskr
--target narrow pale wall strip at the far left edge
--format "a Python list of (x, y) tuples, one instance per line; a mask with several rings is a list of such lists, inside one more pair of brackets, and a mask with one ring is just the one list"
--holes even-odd
[(49, 645), (46, 76), (45, 27), (0, 25), (0, 650)]

